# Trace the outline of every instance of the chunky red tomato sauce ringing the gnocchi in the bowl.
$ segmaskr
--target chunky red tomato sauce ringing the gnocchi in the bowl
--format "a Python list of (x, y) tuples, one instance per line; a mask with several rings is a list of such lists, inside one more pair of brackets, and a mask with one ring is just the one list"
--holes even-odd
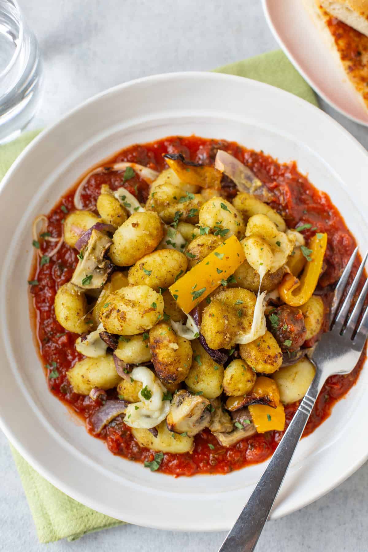
[[(295, 162), (280, 164), (262, 151), (255, 152), (239, 146), (236, 142), (225, 140), (209, 140), (196, 136), (168, 137), (150, 144), (134, 145), (116, 153), (104, 164), (130, 161), (161, 171), (166, 167), (163, 153), (183, 153), (186, 159), (212, 164), (217, 148), (226, 150), (240, 161), (247, 164), (256, 176), (266, 185), (270, 193), (271, 206), (284, 217), (287, 226), (296, 224), (312, 224), (305, 230), (306, 240), (315, 232), (327, 232), (328, 246), (326, 251), (326, 266), (319, 280), (321, 286), (329, 286), (336, 282), (342, 269), (355, 248), (355, 239), (347, 229), (343, 217), (332, 204), (328, 195), (319, 192), (308, 181), (307, 177), (297, 171)], [(124, 172), (106, 171), (95, 174), (88, 179), (82, 194), (84, 208), (95, 212), (95, 204), (102, 184), (109, 184), (111, 189), (123, 185)], [(82, 178), (79, 180), (81, 182)], [(73, 197), (77, 185), (74, 185), (47, 215), (47, 232), (51, 237), (62, 235), (62, 222), (66, 213), (73, 211)], [(124, 183), (125, 188), (134, 194), (142, 203), (147, 199), (148, 187), (145, 181), (137, 175)], [(223, 184), (228, 198), (236, 195), (235, 185), (228, 181)], [(55, 242), (40, 241), (40, 251), (47, 257)], [(62, 284), (68, 282), (77, 264), (77, 251), (63, 243), (60, 250), (42, 264), (38, 256), (36, 266), (30, 274), (30, 280), (38, 284), (30, 286), (36, 319), (36, 338), (42, 362), (45, 366), (47, 384), (57, 399), (71, 407), (74, 412), (86, 420), (102, 403), (93, 401), (89, 396), (73, 392), (68, 383), (67, 371), (83, 356), (74, 348), (77, 335), (66, 332), (57, 322), (54, 311), (56, 291)], [(358, 261), (357, 261), (358, 263)], [(357, 264), (355, 269), (357, 268)], [(332, 294), (324, 295), (328, 305)], [(310, 346), (311, 343), (308, 343)], [(335, 402), (341, 399), (356, 383), (365, 354), (362, 354), (354, 370), (344, 376), (332, 376), (323, 386), (310, 420), (307, 423), (304, 436), (310, 434), (330, 415)], [(108, 400), (116, 399), (116, 390), (108, 391)], [(298, 402), (285, 407), (286, 427), (290, 423), (298, 407)], [(286, 428), (285, 428), (286, 429)], [(91, 432), (90, 432), (91, 433)], [(216, 438), (205, 429), (195, 437), (194, 452), (189, 454), (164, 454), (159, 471), (174, 475), (194, 474), (225, 474), (249, 464), (262, 462), (270, 457), (276, 449), (283, 432), (270, 431), (264, 434), (241, 440), (231, 448), (218, 444)], [(119, 416), (106, 426), (98, 436), (105, 440), (109, 450), (129, 460), (139, 462), (152, 461), (154, 453), (141, 448), (122, 418)], [(211, 446), (209, 446), (211, 445)]]

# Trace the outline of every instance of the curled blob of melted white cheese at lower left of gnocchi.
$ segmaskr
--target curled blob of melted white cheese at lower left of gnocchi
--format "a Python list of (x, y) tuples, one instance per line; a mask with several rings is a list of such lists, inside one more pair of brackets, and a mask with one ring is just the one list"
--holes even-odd
[(125, 411), (124, 423), (127, 426), (151, 429), (161, 423), (169, 413), (170, 401), (163, 401), (165, 391), (161, 381), (156, 378), (153, 371), (146, 366), (137, 366), (130, 373), (130, 377), (142, 383), (145, 395), (151, 393), (150, 399), (142, 396), (142, 390), (138, 393), (141, 401), (130, 404)]

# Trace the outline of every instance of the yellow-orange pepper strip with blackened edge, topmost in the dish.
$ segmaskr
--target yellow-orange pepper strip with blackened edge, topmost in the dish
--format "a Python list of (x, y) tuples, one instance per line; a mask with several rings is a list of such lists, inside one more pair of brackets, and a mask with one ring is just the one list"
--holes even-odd
[(201, 188), (221, 188), (222, 173), (215, 167), (185, 161), (180, 154), (168, 155), (165, 153), (163, 157), (182, 182)]

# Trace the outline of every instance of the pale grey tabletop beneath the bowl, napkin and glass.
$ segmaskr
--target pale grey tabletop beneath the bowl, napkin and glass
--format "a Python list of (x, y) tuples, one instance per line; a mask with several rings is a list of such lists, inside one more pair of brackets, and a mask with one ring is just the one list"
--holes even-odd
[[(275, 0), (281, 2), (282, 0)], [(278, 47), (259, 0), (19, 0), (45, 60), (45, 94), (29, 128), (132, 78), (210, 70)], [(368, 147), (368, 131), (321, 102)], [(14, 406), (16, 407), (16, 406)], [(368, 464), (312, 505), (266, 524), (259, 552), (368, 550)], [(162, 513), (164, 516), (164, 512)], [(216, 529), (214, 527), (214, 529)], [(40, 545), (7, 439), (0, 433), (0, 550), (212, 552), (225, 533), (122, 526)]]

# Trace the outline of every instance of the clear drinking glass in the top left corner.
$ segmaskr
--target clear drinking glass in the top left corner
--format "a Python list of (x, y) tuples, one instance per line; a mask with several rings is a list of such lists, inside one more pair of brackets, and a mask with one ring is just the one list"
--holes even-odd
[(42, 88), (42, 58), (17, 0), (0, 0), (0, 143), (33, 118)]

